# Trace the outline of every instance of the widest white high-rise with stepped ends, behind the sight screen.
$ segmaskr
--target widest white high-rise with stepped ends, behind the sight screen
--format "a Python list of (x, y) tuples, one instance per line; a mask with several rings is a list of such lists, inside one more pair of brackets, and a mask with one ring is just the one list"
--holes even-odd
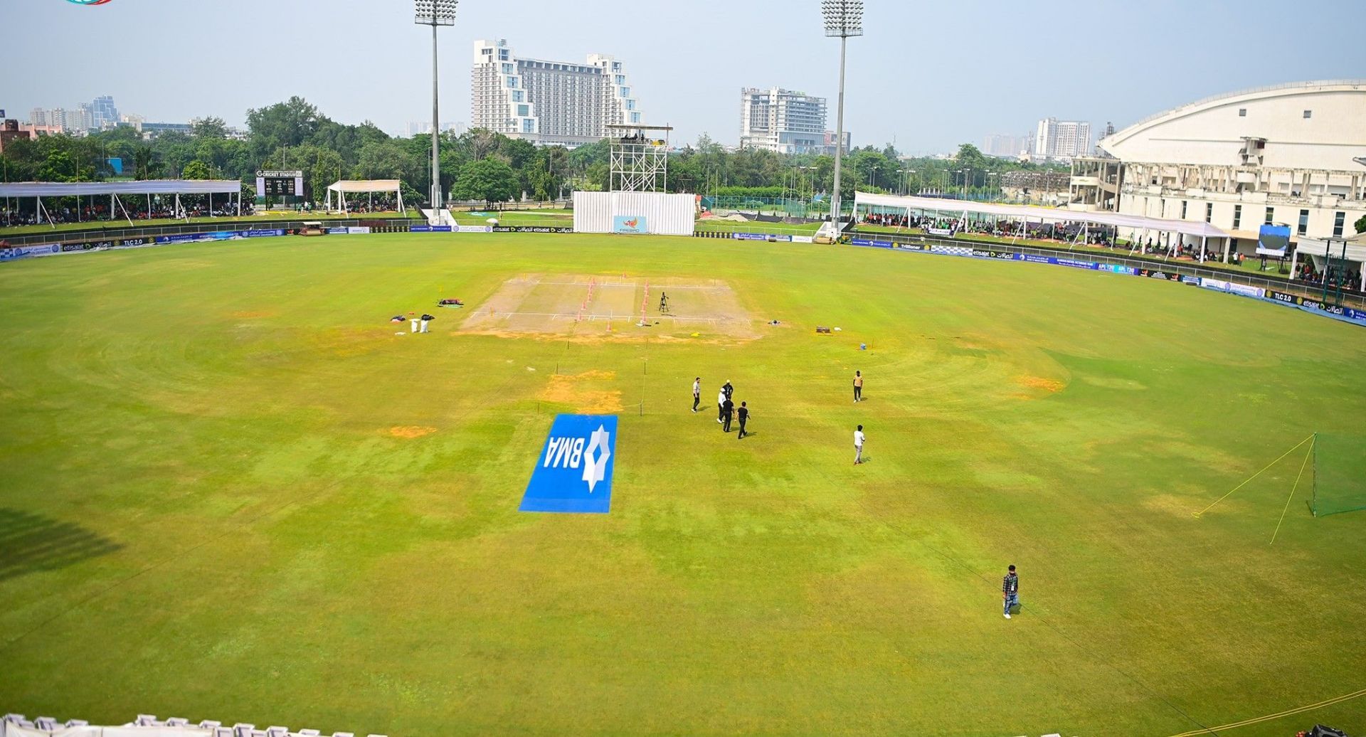
[(609, 124), (642, 123), (622, 63), (520, 59), (507, 41), (475, 41), (470, 124), (537, 145), (579, 146)]

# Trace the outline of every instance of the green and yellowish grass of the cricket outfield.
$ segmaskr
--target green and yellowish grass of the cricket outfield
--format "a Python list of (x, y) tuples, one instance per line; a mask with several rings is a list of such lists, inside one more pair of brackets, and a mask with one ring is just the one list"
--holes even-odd
[[(466, 328), (533, 273), (724, 281), (758, 337)], [(395, 334), (443, 296), (469, 307)], [(1366, 332), (1296, 310), (880, 248), (373, 235), (5, 263), (0, 351), (3, 711), (1168, 737), (1366, 689), (1366, 513), (1287, 508), (1292, 454), (1194, 516), (1366, 416)], [(751, 437), (688, 411), (694, 375)], [(579, 409), (620, 416), (611, 513), (516, 512)], [(1315, 722), (1356, 734), (1366, 697), (1217, 733)]]

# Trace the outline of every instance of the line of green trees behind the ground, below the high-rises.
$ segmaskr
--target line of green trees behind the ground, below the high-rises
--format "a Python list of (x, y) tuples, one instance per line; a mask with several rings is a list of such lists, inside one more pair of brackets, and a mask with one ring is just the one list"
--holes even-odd
[[(395, 138), (370, 121), (329, 119), (301, 97), (246, 113), (245, 139), (228, 135), (223, 119), (205, 117), (190, 132), (143, 139), (131, 127), (75, 138), (15, 139), (0, 154), (5, 182), (98, 182), (105, 179), (236, 179), (254, 197), (257, 169), (302, 169), (309, 199), (321, 201), (339, 179), (398, 179), (407, 202), (425, 202), (430, 183), (428, 134)], [(564, 149), (538, 147), (484, 128), (443, 132), (441, 187), (456, 201), (546, 201), (572, 190), (607, 190), (609, 142)], [(111, 160), (123, 162), (116, 173)], [(963, 145), (955, 157), (906, 158), (891, 145), (863, 146), (844, 157), (841, 190), (926, 190), (981, 195), (999, 190), (999, 175), (1041, 169), (984, 156)], [(665, 187), (672, 192), (813, 199), (833, 188), (835, 158), (727, 150), (708, 135), (671, 153)]]

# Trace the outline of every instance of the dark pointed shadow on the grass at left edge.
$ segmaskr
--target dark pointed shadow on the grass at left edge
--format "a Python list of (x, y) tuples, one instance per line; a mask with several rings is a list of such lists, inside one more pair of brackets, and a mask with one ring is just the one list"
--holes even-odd
[(78, 524), (0, 506), (0, 581), (56, 570), (120, 547)]

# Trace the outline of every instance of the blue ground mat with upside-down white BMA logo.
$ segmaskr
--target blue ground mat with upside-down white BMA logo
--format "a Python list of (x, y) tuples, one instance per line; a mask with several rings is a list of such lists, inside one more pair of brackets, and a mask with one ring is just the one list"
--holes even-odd
[(607, 513), (615, 444), (615, 415), (557, 415), (519, 509)]

